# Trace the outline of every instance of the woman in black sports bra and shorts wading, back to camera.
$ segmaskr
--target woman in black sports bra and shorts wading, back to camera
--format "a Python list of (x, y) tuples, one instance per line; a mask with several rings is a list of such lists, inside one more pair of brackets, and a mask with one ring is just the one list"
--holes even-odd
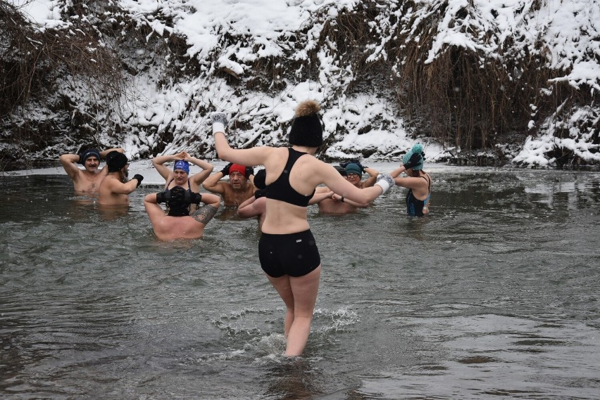
[(320, 256), (307, 221), (308, 200), (325, 183), (335, 193), (356, 202), (371, 202), (385, 193), (394, 180), (381, 175), (375, 186), (359, 189), (330, 164), (314, 157), (323, 144), (323, 125), (315, 101), (296, 108), (289, 131), (289, 148), (232, 149), (225, 137), (227, 117), (211, 116), (215, 148), (221, 160), (242, 165), (264, 165), (267, 176), (265, 220), (258, 244), (261, 267), (285, 302), (285, 354), (302, 354), (308, 334), (321, 272)]

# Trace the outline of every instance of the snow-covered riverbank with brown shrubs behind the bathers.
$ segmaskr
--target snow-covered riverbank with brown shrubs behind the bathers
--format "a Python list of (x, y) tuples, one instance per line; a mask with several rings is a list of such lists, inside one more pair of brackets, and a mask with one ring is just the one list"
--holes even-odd
[(329, 159), (396, 159), (419, 140), (430, 161), (599, 161), (600, 0), (8, 0), (0, 13), (39, 42), (0, 49), (4, 72), (37, 71), (0, 110), (5, 160), (82, 141), (212, 158), (212, 110), (230, 114), (235, 146), (285, 144), (313, 98)]

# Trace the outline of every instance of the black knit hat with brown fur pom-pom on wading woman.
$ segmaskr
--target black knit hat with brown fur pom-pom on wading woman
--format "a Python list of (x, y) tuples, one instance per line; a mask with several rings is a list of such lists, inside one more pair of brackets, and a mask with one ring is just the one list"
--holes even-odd
[(294, 146), (319, 147), (323, 144), (323, 124), (318, 115), (320, 105), (314, 100), (303, 101), (296, 107), (292, 129), (289, 129), (289, 144)]

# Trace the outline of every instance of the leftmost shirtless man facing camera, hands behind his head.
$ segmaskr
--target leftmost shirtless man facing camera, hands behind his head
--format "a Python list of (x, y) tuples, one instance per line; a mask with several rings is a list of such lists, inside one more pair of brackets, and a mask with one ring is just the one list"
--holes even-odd
[[(99, 152), (95, 148), (83, 150), (80, 154), (63, 154), (60, 157), (61, 164), (69, 178), (73, 181), (75, 193), (98, 193), (100, 182), (106, 176), (106, 168), (98, 169), (100, 160), (106, 158), (108, 153), (118, 151), (124, 153), (122, 148), (109, 148)], [(77, 167), (76, 163), (84, 166), (84, 169)]]

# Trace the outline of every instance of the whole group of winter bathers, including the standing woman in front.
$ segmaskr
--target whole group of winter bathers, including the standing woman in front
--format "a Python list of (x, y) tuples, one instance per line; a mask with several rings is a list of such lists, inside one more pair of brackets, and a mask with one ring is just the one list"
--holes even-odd
[[(408, 215), (423, 217), (429, 212), (432, 179), (423, 171), (423, 146), (413, 146), (402, 164), (389, 174), (380, 174), (358, 160), (333, 167), (314, 157), (323, 144), (319, 111), (315, 101), (298, 105), (289, 131), (289, 147), (247, 149), (230, 147), (225, 134), (227, 116), (215, 112), (211, 115), (215, 149), (220, 160), (228, 162), (225, 168), (213, 174), (212, 164), (185, 151), (155, 157), (153, 164), (165, 179), (165, 188), (144, 198), (160, 240), (200, 238), (222, 200), (225, 207), (237, 208), (239, 217), (258, 217), (261, 268), (287, 309), (287, 356), (299, 356), (306, 347), (320, 280), (320, 254), (308, 225), (308, 205), (318, 204), (321, 212), (356, 212), (396, 185), (408, 188)], [(101, 158), (106, 160), (106, 172), (99, 170)], [(77, 167), (77, 162), (84, 169)], [(174, 162), (173, 169), (165, 167), (167, 162)], [(128, 195), (144, 179), (136, 174), (127, 180), (129, 162), (121, 148), (65, 154), (61, 163), (75, 191), (97, 192), (101, 205), (129, 204)], [(201, 172), (190, 175), (190, 164)], [(264, 169), (255, 174), (251, 166), (256, 165)], [(400, 176), (402, 173), (406, 176)], [(363, 174), (369, 175), (365, 181), (361, 180)], [(222, 180), (225, 176), (229, 181)], [(210, 193), (200, 193), (201, 187)]]

